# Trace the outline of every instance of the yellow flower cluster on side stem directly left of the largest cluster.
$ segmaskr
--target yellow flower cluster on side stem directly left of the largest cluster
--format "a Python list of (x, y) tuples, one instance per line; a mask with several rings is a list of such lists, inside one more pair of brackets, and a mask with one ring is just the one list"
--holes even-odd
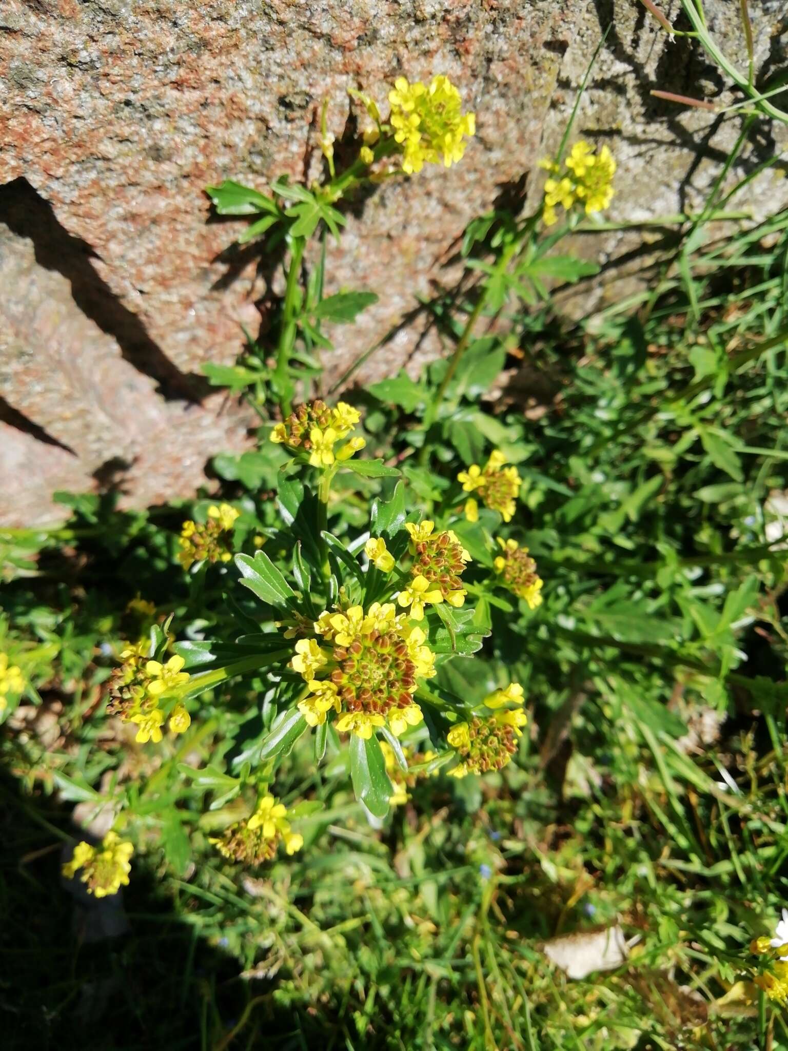
[(158, 660), (147, 660), (147, 653), (146, 639), (121, 653), (123, 663), (115, 668), (109, 679), (107, 712), (119, 715), (123, 722), (134, 723), (138, 727), (134, 740), (140, 744), (148, 741), (158, 744), (163, 737), (165, 720), (159, 704), (165, 698), (175, 699), (169, 717), (172, 733), (183, 734), (189, 728), (191, 718), (183, 701), (178, 699), (189, 681), (189, 673), (183, 671), (183, 657), (170, 657), (162, 664)]

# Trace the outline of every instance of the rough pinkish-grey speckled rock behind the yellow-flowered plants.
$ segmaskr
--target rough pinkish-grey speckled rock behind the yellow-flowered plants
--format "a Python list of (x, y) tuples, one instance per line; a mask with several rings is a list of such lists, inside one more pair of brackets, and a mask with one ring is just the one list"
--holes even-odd
[[(706, 2), (726, 54), (744, 67), (738, 8)], [(784, 4), (751, 0), (750, 9), (756, 64), (780, 68)], [(478, 133), (460, 165), (380, 187), (331, 248), (329, 291), (380, 296), (355, 328), (335, 331), (332, 379), (396, 329), (414, 292), (454, 282), (451, 259), (473, 215), (501, 193), (517, 200), (523, 185), (536, 200), (538, 178), (518, 181), (558, 141), (609, 23), (577, 124), (618, 158), (608, 218), (692, 207), (738, 122), (659, 102), (649, 90), (735, 97), (688, 41), (669, 42), (634, 0), (5, 0), (0, 399), (8, 408), (3, 414), (0, 400), (0, 439), (18, 433), (0, 446), (0, 493), (18, 480), (20, 463), (38, 468), (21, 508), (0, 497), (0, 521), (51, 514), (47, 494), (61, 469), (58, 488), (74, 488), (97, 472), (101, 479), (109, 463), (124, 499), (143, 504), (193, 492), (211, 453), (243, 445), (245, 418), (207, 392), (200, 366), (234, 359), (241, 324), (260, 327), (266, 286), (253, 251), (223, 254), (243, 224), (206, 223), (207, 183), (234, 178), (265, 188), (281, 173), (314, 176), (316, 109), (332, 99), (339, 137), (349, 86), (382, 102), (398, 74), (442, 71), (476, 110)], [(782, 129), (763, 122), (760, 131), (731, 179), (785, 144)], [(785, 203), (780, 176), (766, 172), (734, 203), (754, 212)], [(637, 260), (627, 255), (639, 242), (631, 232), (583, 238), (579, 250), (602, 255), (605, 280), (566, 309), (584, 312), (634, 287)], [(439, 352), (424, 325), (417, 317), (396, 331), (359, 382), (402, 364), (416, 369)]]

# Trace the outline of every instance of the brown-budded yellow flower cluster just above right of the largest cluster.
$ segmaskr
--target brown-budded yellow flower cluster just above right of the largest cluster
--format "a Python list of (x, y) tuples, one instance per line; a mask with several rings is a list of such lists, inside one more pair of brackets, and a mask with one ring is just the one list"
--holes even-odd
[(411, 607), (411, 617), (422, 620), (424, 603), (444, 600), (459, 607), (468, 592), (460, 575), (471, 556), (451, 530), (434, 533), (435, 522), (426, 520), (414, 526), (406, 522), (411, 535), (410, 552), (413, 556), (411, 582), (397, 596), (397, 602)]

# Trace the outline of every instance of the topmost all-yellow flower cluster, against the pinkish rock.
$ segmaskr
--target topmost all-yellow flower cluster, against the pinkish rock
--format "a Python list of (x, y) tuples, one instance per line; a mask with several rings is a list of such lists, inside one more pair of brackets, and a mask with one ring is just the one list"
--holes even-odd
[(441, 161), (450, 168), (462, 159), (465, 137), (476, 133), (476, 117), (462, 112), (460, 94), (448, 77), (433, 77), (429, 85), (397, 77), (389, 102), (389, 121), (402, 148), (405, 172), (412, 174), (426, 163)]

